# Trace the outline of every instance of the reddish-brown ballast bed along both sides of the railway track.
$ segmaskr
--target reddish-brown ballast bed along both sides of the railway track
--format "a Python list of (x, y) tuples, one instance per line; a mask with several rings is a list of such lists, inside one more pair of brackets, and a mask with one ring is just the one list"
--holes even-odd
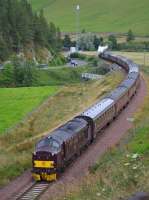
[[(120, 138), (132, 127), (127, 118), (132, 117), (133, 113), (141, 106), (146, 95), (145, 81), (141, 79), (140, 88), (136, 96), (129, 103), (127, 108), (105, 129), (102, 136), (71, 165), (66, 169), (62, 177), (51, 184), (49, 189), (42, 195), (42, 200), (50, 200), (65, 194), (65, 188), (70, 186), (88, 173), (89, 166), (93, 165), (106, 150), (117, 144)], [(31, 184), (30, 172), (25, 172), (22, 176), (12, 181), (8, 186), (0, 189), (0, 199), (13, 199), (13, 194), (17, 194), (24, 189), (26, 185)]]

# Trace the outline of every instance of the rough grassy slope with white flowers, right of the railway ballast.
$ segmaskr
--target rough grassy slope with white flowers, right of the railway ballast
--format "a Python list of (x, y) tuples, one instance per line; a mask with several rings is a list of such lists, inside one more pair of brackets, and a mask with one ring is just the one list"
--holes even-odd
[[(138, 53), (126, 54), (138, 61)], [(61, 199), (123, 200), (135, 192), (149, 191), (149, 70), (144, 66), (142, 70), (148, 94), (134, 116), (135, 129), (129, 131), (118, 147), (110, 149), (97, 161), (79, 185), (68, 187), (66, 196)], [(135, 153), (139, 155), (136, 159), (133, 158)]]

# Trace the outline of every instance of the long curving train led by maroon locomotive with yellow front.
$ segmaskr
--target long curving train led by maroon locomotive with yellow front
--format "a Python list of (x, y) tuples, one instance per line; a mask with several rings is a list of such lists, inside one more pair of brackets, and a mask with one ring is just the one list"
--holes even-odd
[(128, 73), (126, 79), (102, 100), (36, 144), (32, 156), (32, 176), (36, 181), (56, 180), (64, 168), (101, 134), (101, 130), (119, 115), (135, 95), (140, 83), (138, 65), (109, 52), (102, 53), (100, 57), (124, 68)]

